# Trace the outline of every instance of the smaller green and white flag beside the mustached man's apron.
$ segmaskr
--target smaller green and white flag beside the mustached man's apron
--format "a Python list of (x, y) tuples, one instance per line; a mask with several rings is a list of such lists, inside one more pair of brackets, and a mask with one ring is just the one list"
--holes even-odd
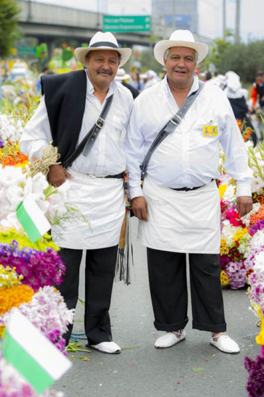
[(31, 194), (18, 204), (16, 216), (32, 243), (51, 228), (50, 222)]

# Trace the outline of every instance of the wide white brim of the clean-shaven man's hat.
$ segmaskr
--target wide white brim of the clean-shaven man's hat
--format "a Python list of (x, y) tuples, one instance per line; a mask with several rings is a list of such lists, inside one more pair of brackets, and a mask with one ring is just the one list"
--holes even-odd
[(161, 40), (158, 41), (154, 47), (155, 59), (164, 66), (164, 54), (168, 48), (171, 47), (187, 47), (193, 48), (197, 51), (198, 59), (197, 64), (201, 62), (208, 54), (208, 46), (205, 43), (190, 42), (190, 41), (178, 41), (178, 40)]

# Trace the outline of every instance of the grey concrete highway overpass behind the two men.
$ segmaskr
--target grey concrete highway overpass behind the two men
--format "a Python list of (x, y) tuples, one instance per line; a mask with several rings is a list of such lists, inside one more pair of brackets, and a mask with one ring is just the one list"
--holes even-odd
[[(93, 34), (102, 30), (103, 14), (61, 5), (41, 3), (31, 0), (18, 0), (21, 9), (19, 26), (25, 37), (36, 37), (39, 43), (46, 42), (51, 55), (57, 38), (76, 40), (79, 44), (89, 42)], [(118, 42), (149, 46), (151, 36), (169, 38), (173, 28), (152, 24), (151, 32), (116, 33)], [(153, 42), (153, 39), (152, 39)]]

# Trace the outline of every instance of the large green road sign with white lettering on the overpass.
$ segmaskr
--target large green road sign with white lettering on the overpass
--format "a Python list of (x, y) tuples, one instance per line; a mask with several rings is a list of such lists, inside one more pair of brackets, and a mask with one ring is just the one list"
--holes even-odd
[(150, 15), (103, 15), (103, 31), (149, 32), (150, 29)]

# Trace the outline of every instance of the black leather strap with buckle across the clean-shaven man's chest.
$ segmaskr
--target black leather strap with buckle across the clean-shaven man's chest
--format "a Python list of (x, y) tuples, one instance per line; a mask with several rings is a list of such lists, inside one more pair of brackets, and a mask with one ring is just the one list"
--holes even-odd
[(150, 161), (150, 157), (152, 156), (153, 152), (156, 150), (156, 148), (160, 145), (160, 143), (168, 136), (171, 132), (174, 132), (176, 128), (179, 126), (181, 123), (182, 119), (198, 97), (198, 94), (202, 90), (204, 86), (204, 83), (199, 81), (199, 87), (197, 91), (192, 92), (191, 95), (189, 95), (181, 108), (178, 110), (178, 112), (168, 121), (168, 123), (160, 130), (160, 132), (157, 134), (153, 142), (151, 143), (147, 154), (145, 155), (145, 158), (140, 166), (141, 169), (141, 181), (143, 182), (144, 177), (146, 175), (146, 170), (148, 163)]

